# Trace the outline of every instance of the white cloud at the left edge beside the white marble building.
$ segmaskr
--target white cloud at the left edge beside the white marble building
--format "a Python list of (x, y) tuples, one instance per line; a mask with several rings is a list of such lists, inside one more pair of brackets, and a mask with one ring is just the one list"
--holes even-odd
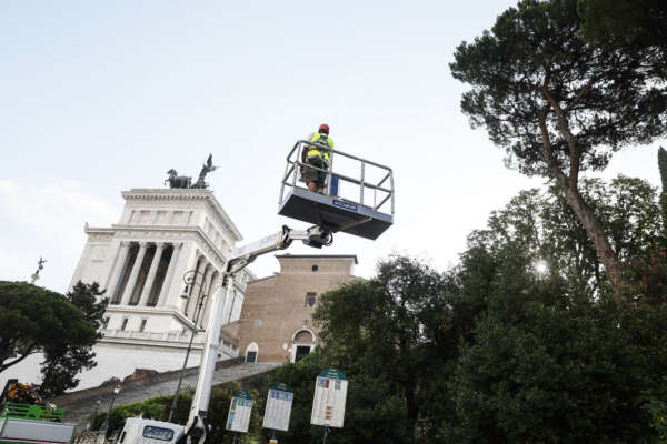
[(81, 221), (108, 226), (119, 215), (76, 181), (0, 179), (0, 279), (28, 281), (43, 256), (49, 262), (39, 284), (64, 291), (86, 242)]

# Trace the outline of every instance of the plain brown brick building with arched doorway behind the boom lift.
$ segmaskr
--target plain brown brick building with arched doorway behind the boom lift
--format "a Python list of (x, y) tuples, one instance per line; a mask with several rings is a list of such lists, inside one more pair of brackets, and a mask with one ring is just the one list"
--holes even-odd
[(317, 345), (312, 312), (322, 293), (355, 279), (356, 255), (276, 255), (280, 273), (248, 283), (238, 321), (248, 362), (295, 362)]

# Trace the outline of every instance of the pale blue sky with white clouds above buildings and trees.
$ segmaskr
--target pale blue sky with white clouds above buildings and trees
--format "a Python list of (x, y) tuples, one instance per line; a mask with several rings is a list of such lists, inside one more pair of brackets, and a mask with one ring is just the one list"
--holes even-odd
[[(460, 112), (448, 64), (512, 1), (0, 2), (0, 280), (66, 291), (84, 223), (117, 223), (122, 190), (207, 176), (245, 242), (308, 224), (277, 215), (285, 158), (326, 122), (336, 147), (389, 165), (395, 224), (337, 234), (370, 276), (392, 252), (444, 270), (520, 190), (502, 150)], [(657, 141), (599, 174), (658, 186)], [(278, 271), (272, 255), (251, 265)]]

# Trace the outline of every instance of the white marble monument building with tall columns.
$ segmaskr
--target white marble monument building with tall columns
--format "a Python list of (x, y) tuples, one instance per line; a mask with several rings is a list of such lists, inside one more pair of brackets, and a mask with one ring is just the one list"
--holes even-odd
[[(103, 339), (96, 345), (98, 365), (80, 375), (78, 389), (99, 385), (110, 377), (123, 379), (136, 369), (159, 372), (183, 364), (197, 307), (203, 295), (198, 326), (207, 324), (211, 300), (219, 291), (231, 249), (241, 234), (209, 190), (135, 189), (126, 200), (119, 223), (110, 228), (86, 225), (88, 241), (70, 287), (79, 280), (99, 282), (110, 304)], [(189, 299), (181, 295), (188, 271), (195, 278)], [(249, 271), (235, 280), (223, 323), (238, 321)], [(195, 336), (188, 365), (198, 365), (205, 333)], [(222, 330), (220, 359), (238, 355), (238, 339)], [(36, 355), (0, 376), (39, 381)]]

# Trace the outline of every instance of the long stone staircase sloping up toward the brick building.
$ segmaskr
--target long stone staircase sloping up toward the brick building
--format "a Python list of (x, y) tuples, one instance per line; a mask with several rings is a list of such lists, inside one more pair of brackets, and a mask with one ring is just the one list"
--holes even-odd
[[(242, 359), (232, 359), (218, 363), (213, 375), (213, 385), (223, 384), (231, 381), (240, 381), (257, 374), (267, 373), (282, 364), (280, 363), (245, 363)], [(141, 377), (126, 377), (123, 382), (118, 382), (121, 391), (116, 395), (115, 405), (143, 402), (156, 396), (173, 395), (180, 371), (165, 373), (149, 373)], [(199, 367), (186, 369), (181, 391), (195, 389)], [(84, 425), (91, 413), (96, 411), (97, 401), (100, 400), (99, 412), (109, 407), (113, 396), (116, 382), (102, 384), (99, 387), (87, 389), (77, 392), (66, 393), (52, 402), (59, 408), (64, 408), (64, 421)]]

